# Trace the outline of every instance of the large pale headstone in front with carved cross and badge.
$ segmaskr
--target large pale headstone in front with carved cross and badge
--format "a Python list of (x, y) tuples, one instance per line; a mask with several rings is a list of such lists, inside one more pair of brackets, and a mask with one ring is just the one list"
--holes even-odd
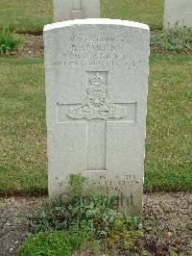
[[(150, 31), (145, 24), (86, 19), (44, 28), (49, 194), (83, 173), (87, 192), (142, 209)], [(115, 201), (116, 203), (116, 201)]]

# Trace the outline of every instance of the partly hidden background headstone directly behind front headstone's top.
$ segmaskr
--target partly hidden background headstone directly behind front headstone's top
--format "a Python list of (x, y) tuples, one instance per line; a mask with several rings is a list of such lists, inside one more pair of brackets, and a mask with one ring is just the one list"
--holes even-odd
[(100, 0), (54, 0), (54, 21), (99, 18)]

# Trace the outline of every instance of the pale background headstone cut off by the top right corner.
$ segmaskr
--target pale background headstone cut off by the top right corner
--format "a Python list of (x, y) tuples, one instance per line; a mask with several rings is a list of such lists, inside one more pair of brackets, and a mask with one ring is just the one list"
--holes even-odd
[(192, 27), (192, 0), (165, 0), (164, 29)]

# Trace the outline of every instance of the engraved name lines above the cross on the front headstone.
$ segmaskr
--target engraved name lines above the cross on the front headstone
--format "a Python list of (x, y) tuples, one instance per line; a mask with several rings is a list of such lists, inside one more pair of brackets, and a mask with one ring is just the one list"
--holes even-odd
[[(77, 11), (76, 11), (77, 12)], [(80, 13), (82, 11), (79, 11)], [(132, 38), (121, 35), (117, 38), (88, 38), (81, 33), (72, 35), (69, 38), (70, 45), (64, 49), (60, 59), (53, 62), (55, 66), (118, 66), (121, 68), (132, 69), (140, 67), (146, 63), (145, 60), (135, 55), (132, 58)], [(125, 51), (124, 44), (128, 43)]]

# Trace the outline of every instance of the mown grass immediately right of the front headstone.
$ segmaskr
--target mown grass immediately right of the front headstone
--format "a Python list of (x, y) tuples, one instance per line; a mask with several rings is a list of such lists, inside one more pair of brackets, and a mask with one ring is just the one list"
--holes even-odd
[(192, 191), (192, 56), (152, 55), (147, 191)]

